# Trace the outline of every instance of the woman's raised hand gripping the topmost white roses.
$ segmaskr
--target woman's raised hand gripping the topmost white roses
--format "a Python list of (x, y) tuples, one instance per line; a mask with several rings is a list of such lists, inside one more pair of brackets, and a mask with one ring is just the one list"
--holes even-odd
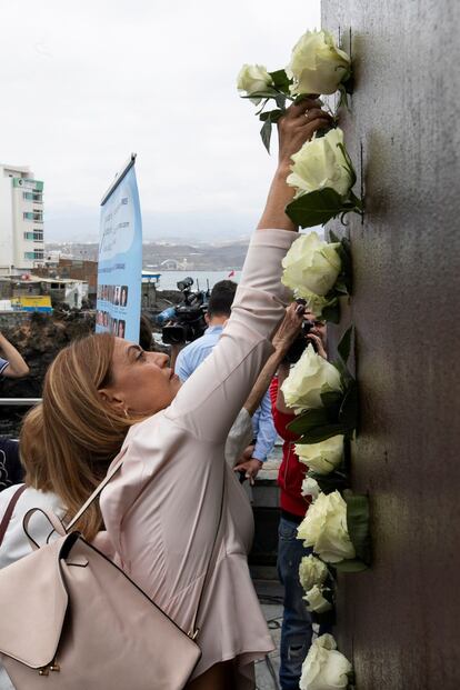
[(291, 156), (297, 153), (306, 141), (310, 141), (319, 129), (329, 128), (332, 118), (321, 110), (321, 101), (306, 98), (298, 106), (290, 106), (278, 122), (279, 162), (278, 167), (286, 176), (292, 164)]

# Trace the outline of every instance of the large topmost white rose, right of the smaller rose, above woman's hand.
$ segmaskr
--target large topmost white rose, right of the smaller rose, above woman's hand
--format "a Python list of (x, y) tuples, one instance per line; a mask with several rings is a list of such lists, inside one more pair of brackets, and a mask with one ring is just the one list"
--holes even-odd
[(329, 31), (307, 31), (296, 43), (287, 74), (292, 93), (333, 93), (350, 72), (350, 58)]

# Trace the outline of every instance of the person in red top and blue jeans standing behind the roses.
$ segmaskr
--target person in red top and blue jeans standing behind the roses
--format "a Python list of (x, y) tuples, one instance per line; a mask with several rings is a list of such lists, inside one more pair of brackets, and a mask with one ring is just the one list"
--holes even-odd
[[(314, 316), (306, 312), (308, 319)], [(317, 346), (317, 351), (324, 359), (326, 326), (314, 321), (314, 328), (308, 339)], [(294, 452), (298, 437), (287, 426), (294, 419), (292, 410), (286, 407), (281, 386), (289, 376), (289, 364), (282, 362), (270, 386), (271, 408), (274, 427), (283, 439), (282, 462), (278, 473), (281, 488), (281, 519), (278, 530), (278, 576), (284, 586), (283, 617), (280, 649), (280, 683), (281, 690), (298, 690), (302, 671), (302, 662), (311, 644), (311, 617), (303, 600), (303, 589), (299, 581), (299, 564), (303, 556), (311, 553), (300, 539), (297, 528), (306, 517), (310, 506), (310, 497), (302, 496), (302, 481), (307, 467), (299, 462)]]

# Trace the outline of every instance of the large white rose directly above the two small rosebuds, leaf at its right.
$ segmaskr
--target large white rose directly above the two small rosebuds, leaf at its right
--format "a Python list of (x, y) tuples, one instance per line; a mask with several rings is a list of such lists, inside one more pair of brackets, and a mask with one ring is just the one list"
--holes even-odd
[(328, 563), (354, 558), (347, 527), (347, 503), (338, 491), (320, 493), (297, 530), (298, 539)]

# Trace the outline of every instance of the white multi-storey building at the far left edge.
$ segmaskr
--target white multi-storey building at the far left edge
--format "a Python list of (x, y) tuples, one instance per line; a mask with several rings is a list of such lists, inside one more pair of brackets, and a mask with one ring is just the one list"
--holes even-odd
[(0, 276), (42, 266), (43, 253), (43, 182), (0, 164)]

